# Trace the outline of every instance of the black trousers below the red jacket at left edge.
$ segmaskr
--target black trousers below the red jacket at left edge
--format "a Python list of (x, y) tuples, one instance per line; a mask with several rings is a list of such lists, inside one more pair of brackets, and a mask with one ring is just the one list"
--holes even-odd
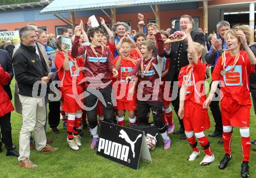
[[(10, 112), (8, 114), (0, 117), (0, 126), (1, 126), (1, 134), (0, 139), (3, 144), (5, 144), (5, 148), (7, 151), (13, 150), (12, 147), (12, 126), (10, 124)], [(0, 147), (2, 147), (2, 143), (0, 142)]]

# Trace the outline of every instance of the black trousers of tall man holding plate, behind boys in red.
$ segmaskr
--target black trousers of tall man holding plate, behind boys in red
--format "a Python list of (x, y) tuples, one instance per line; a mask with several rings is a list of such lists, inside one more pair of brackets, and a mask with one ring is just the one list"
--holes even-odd
[(172, 96), (176, 96), (175, 92), (177, 92), (177, 97), (175, 99), (172, 99), (172, 106), (173, 106), (173, 108), (174, 108), (174, 110), (176, 112), (176, 115), (177, 115), (178, 119), (179, 119), (180, 129), (185, 130), (184, 129), (183, 119), (180, 119), (180, 117), (178, 116), (179, 107), (180, 107), (180, 89), (177, 89), (178, 87), (175, 87), (173, 89), (173, 84), (174, 84), (174, 82), (178, 81), (178, 77), (179, 77), (179, 72), (177, 74), (175, 74), (175, 76), (173, 78), (174, 80), (171, 83)]

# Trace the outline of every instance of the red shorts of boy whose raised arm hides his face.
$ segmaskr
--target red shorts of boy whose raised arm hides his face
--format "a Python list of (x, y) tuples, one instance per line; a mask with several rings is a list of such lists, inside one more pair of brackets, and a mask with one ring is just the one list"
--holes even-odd
[(194, 130), (195, 133), (203, 132), (210, 128), (211, 123), (208, 110), (199, 109), (191, 101), (185, 101), (184, 104), (184, 128), (186, 131)]

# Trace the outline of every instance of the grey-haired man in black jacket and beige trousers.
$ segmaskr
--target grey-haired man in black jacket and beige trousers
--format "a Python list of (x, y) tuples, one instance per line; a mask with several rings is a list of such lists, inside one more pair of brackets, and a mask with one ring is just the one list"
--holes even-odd
[(13, 70), (19, 88), (19, 98), (22, 103), (22, 129), (20, 130), (19, 166), (24, 168), (35, 168), (30, 157), (30, 136), (34, 130), (35, 147), (38, 151), (52, 152), (58, 148), (47, 146), (44, 131), (46, 121), (45, 115), (45, 93), (48, 76), (47, 64), (39, 52), (35, 49), (35, 28), (25, 26), (20, 28), (20, 48), (13, 55)]

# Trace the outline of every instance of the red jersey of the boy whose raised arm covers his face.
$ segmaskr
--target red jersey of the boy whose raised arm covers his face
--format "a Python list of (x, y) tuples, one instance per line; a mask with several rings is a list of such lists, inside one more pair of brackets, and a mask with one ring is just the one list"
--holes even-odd
[(186, 100), (190, 100), (195, 103), (201, 110), (202, 104), (206, 100), (204, 81), (205, 81), (206, 67), (198, 59), (198, 64), (193, 66), (185, 66), (180, 69), (179, 74), (179, 86), (182, 86), (183, 82), (187, 83)]

